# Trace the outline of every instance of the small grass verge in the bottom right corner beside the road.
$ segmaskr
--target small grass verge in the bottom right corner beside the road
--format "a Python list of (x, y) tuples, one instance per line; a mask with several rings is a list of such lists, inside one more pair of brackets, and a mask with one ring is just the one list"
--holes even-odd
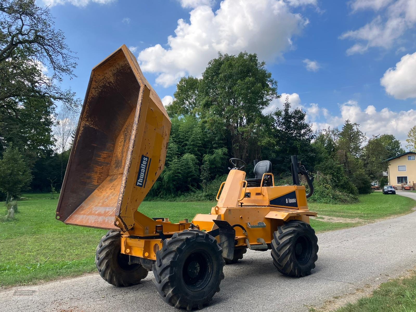
[(336, 312), (414, 312), (416, 311), (416, 275), (383, 283), (370, 297), (348, 304)]

